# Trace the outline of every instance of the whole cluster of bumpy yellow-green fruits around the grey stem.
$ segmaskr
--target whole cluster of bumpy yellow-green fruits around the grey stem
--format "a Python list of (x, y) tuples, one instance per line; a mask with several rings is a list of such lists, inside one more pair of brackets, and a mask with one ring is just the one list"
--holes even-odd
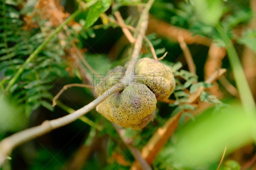
[[(159, 61), (142, 58), (135, 65), (135, 74), (130, 85), (100, 103), (96, 110), (109, 121), (123, 127), (141, 129), (153, 120), (156, 102), (168, 99), (175, 88), (172, 71)], [(125, 68), (117, 66), (96, 88), (103, 94), (111, 86), (121, 84)], [(115, 76), (113, 76), (115, 75)]]

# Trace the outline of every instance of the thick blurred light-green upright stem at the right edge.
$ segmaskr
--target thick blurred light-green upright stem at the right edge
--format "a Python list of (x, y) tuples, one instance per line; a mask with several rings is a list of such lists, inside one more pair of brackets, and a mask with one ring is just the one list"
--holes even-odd
[(254, 114), (256, 111), (255, 102), (249, 88), (248, 82), (246, 80), (242, 64), (239, 60), (239, 57), (236, 53), (236, 49), (233, 43), (226, 36), (222, 26), (220, 24), (216, 25), (216, 29), (221, 36), (221, 39), (226, 44), (226, 49), (228, 53), (228, 59), (231, 65), (231, 68), (234, 73), (236, 86), (240, 95), (241, 102), (243, 104), (246, 114)]

